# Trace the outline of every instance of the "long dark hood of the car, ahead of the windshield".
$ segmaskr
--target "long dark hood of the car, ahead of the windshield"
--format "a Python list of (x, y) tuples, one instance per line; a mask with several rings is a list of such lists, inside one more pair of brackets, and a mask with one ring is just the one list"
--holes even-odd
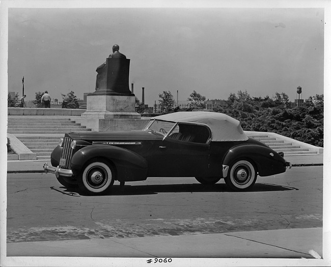
[(67, 133), (73, 139), (81, 140), (154, 140), (162, 139), (163, 135), (152, 131), (116, 131), (116, 132), (79, 132), (79, 133)]

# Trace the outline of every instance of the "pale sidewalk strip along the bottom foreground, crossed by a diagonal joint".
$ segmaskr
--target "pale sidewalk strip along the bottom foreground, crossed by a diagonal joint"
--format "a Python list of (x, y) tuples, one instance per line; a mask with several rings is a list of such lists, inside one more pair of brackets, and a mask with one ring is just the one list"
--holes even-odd
[(8, 243), (7, 256), (319, 258), (322, 228)]

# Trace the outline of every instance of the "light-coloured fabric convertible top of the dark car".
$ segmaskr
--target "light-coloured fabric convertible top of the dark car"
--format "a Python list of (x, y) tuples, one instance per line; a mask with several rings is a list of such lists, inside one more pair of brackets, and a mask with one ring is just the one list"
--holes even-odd
[(245, 141), (240, 123), (224, 113), (208, 111), (180, 111), (153, 117), (152, 120), (175, 123), (196, 123), (206, 125), (211, 130), (212, 141)]

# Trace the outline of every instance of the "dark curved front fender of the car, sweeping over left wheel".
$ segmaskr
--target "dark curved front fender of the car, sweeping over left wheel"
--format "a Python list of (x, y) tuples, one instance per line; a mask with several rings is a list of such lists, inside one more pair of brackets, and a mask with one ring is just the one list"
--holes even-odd
[(78, 175), (89, 161), (104, 158), (115, 165), (118, 181), (143, 181), (147, 178), (147, 161), (142, 156), (113, 145), (89, 145), (71, 159), (71, 169)]

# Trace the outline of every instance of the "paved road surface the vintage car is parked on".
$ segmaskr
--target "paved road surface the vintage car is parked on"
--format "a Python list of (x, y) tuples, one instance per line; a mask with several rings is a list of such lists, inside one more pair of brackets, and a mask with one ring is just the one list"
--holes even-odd
[(168, 177), (81, 196), (42, 173), (8, 174), (7, 186), (9, 243), (322, 227), (321, 166), (258, 177), (249, 192)]

